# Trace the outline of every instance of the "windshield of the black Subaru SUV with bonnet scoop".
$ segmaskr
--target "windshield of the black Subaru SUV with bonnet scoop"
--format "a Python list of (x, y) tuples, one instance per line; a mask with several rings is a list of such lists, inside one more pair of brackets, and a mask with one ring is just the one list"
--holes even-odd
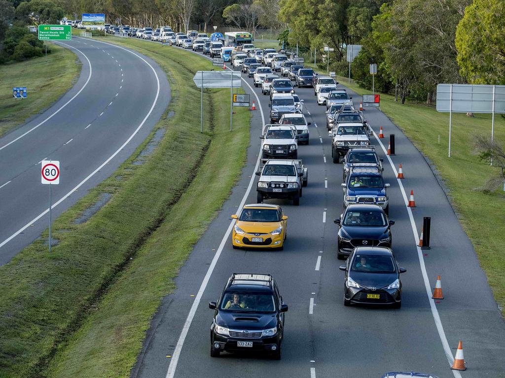
[(275, 300), (269, 293), (228, 292), (223, 295), (221, 309), (233, 312), (273, 312)]

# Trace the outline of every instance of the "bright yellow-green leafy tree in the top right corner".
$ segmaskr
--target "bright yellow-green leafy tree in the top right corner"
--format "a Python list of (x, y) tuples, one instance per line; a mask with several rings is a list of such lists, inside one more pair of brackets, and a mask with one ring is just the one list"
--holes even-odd
[(461, 74), (472, 84), (505, 84), (505, 1), (474, 0), (456, 32)]

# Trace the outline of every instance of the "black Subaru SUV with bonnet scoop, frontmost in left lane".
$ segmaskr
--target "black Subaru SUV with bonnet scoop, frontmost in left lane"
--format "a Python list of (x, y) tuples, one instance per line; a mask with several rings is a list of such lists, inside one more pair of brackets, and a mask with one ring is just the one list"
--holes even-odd
[(269, 274), (233, 273), (217, 302), (211, 326), (211, 356), (223, 351), (265, 351), (281, 358), (284, 304)]

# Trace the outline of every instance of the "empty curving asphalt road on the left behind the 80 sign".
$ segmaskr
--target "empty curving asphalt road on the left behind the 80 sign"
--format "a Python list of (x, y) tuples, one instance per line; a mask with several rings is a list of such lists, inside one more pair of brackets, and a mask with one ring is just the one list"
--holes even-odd
[(49, 185), (40, 182), (41, 160), (60, 161), (60, 184), (52, 185), (55, 219), (133, 153), (170, 101), (166, 75), (152, 59), (78, 37), (61, 45), (82, 62), (78, 82), (0, 139), (0, 265), (48, 227)]

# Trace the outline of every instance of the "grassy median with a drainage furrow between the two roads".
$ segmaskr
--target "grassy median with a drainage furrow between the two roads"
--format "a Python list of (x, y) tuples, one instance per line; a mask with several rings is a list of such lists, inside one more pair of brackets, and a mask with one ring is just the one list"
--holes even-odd
[[(200, 93), (191, 79), (210, 69), (207, 59), (108, 40), (154, 58), (168, 73), (172, 101), (157, 125), (166, 134), (142, 165), (132, 162), (147, 141), (56, 220), (60, 242), (51, 255), (43, 235), (0, 268), (2, 377), (127, 376), (161, 298), (174, 289), (172, 279), (245, 162), (249, 114), (239, 109), (229, 132), (228, 90), (204, 94), (199, 133)], [(103, 192), (113, 193), (109, 203), (74, 224)]]

